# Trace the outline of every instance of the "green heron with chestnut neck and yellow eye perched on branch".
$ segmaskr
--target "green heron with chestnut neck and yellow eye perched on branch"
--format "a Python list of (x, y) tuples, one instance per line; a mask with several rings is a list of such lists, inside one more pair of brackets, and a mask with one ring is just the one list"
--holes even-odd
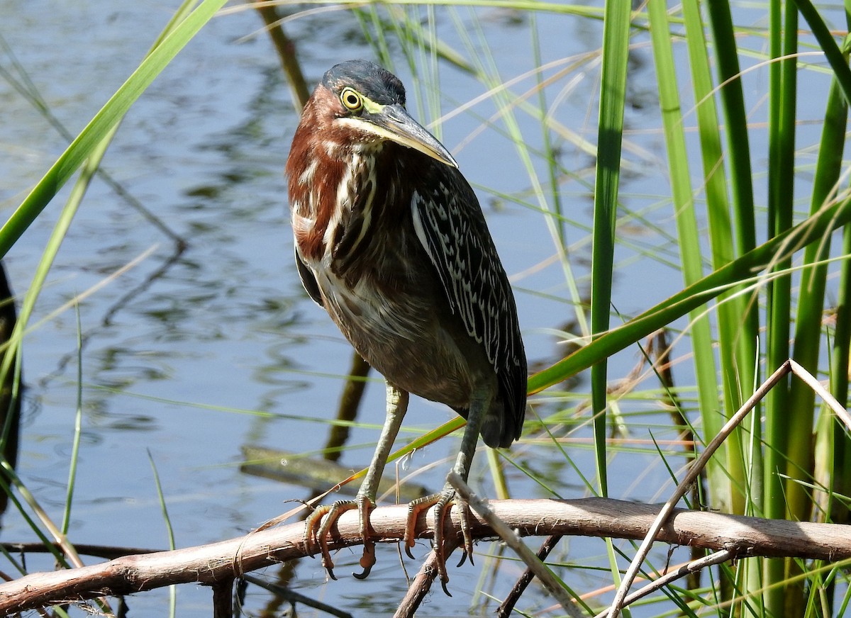
[[(369, 511), (408, 393), (466, 418), (453, 468), (466, 479), (479, 434), (494, 448), (520, 437), (526, 354), (476, 196), (448, 150), (408, 115), (405, 89), (391, 72), (350, 60), (325, 73), (302, 111), (286, 173), (301, 281), (386, 378), (387, 417), (357, 497), (318, 508), (306, 523), (305, 543), (317, 542), (334, 578), (328, 532), (357, 508), (364, 550), (356, 576), (363, 578), (375, 562)], [(471, 556), (468, 507), (448, 484), (411, 502), (404, 539), (410, 556), (417, 515), (436, 505), (444, 589), (443, 520), (454, 503)]]

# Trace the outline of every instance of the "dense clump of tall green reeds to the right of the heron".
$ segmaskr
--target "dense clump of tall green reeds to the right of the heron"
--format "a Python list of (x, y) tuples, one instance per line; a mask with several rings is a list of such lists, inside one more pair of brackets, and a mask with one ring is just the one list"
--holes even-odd
[[(767, 26), (753, 30), (736, 24), (736, 7), (729, 3), (701, 6), (687, 0), (671, 9), (664, 2), (649, 0), (629, 15), (632, 26), (627, 31), (624, 6), (605, 3), (602, 14), (577, 17), (603, 18), (602, 44), (596, 50), (602, 57), (600, 92), (594, 101), (597, 111), (589, 114), (598, 117), (591, 232), (592, 334), (583, 348), (540, 371), (530, 382), (530, 390), (537, 393), (591, 368), (590, 410), (597, 442), (593, 489), (603, 493), (607, 476), (615, 473), (609, 468), (605, 445), (607, 418), (611, 422), (619, 410), (609, 392), (614, 377), (607, 372), (606, 359), (656, 328), (688, 316), (685, 337), (675, 353), (688, 355), (693, 364), (690, 388), (700, 412), (698, 435), (704, 441), (740, 407), (761, 375), (774, 371), (790, 356), (814, 374), (829, 377), (832, 392), (842, 401), (847, 398), (848, 379), (844, 297), (848, 246), (831, 251), (831, 238), (851, 215), (848, 165), (842, 158), (848, 100), (843, 85), (849, 73), (847, 55), (840, 53), (825, 16), (811, 3), (778, 0), (764, 5)], [(540, 20), (552, 11), (576, 8), (524, 3), (523, 9)], [(530, 23), (534, 28), (535, 22)], [(799, 29), (803, 30), (800, 37)], [(610, 329), (610, 304), (618, 303), (617, 288), (614, 292), (611, 288), (617, 226), (624, 224), (619, 215), (630, 201), (619, 191), (618, 182), (628, 103), (629, 77), (624, 71), (629, 47), (625, 43), (637, 48), (648, 37), (657, 80), (659, 130), (665, 139), (666, 173), (660, 175), (660, 184), (669, 187), (660, 201), (667, 202), (676, 221), (683, 292)], [(402, 37), (398, 43), (420, 53), (425, 48), (420, 37)], [(432, 54), (437, 54), (436, 47), (431, 48)], [(824, 55), (804, 62), (801, 49), (821, 50)], [(471, 55), (466, 62), (475, 65), (477, 60)], [(743, 72), (743, 66), (748, 66), (748, 72)], [(827, 67), (832, 81), (820, 80), (818, 94), (811, 89), (802, 93), (799, 77), (806, 77), (812, 88), (814, 75), (823, 74)], [(540, 84), (547, 81), (545, 71), (540, 68)], [(767, 78), (759, 82), (758, 77), (751, 79), (754, 74)], [(479, 77), (484, 89), (494, 89), (493, 77)], [(745, 92), (752, 91), (755, 82), (768, 87), (759, 93), (767, 100), (765, 139), (752, 126), (754, 110), (745, 100)], [(540, 88), (543, 93), (544, 87)], [(507, 89), (510, 93), (511, 88)], [(500, 90), (500, 98), (504, 95), (505, 90)], [(802, 96), (824, 101), (817, 143), (798, 141), (798, 133), (805, 139), (813, 134), (801, 129), (797, 99)], [(683, 109), (682, 100), (694, 100), (694, 108)], [(543, 152), (532, 153), (528, 139), (517, 140), (512, 131), (508, 134), (527, 160), (534, 161), (528, 194), (545, 199), (540, 210), (557, 230), (552, 235), (555, 251), (567, 256), (563, 212), (569, 198), (560, 193), (556, 179), (568, 177), (570, 170), (550, 150), (552, 135), (559, 133), (547, 124), (551, 118), (543, 94), (539, 105), (530, 113), (540, 118), (548, 135)], [(501, 117), (505, 116), (511, 116), (511, 111)], [(804, 152), (814, 154), (804, 156)], [(541, 186), (540, 169), (550, 171), (551, 185)], [(808, 202), (806, 213), (796, 211), (802, 201)], [(572, 266), (563, 264), (563, 269), (571, 272)], [(827, 286), (831, 275), (838, 276), (838, 286)], [(836, 329), (822, 320), (825, 312), (834, 311)], [(804, 384), (791, 380), (775, 388), (755, 411), (757, 419), (764, 417), (764, 425), (754, 422), (740, 428), (712, 462), (705, 507), (774, 518), (844, 521), (848, 491), (844, 483), (842, 488), (837, 485), (837, 479), (848, 478), (844, 468), (847, 436), (824, 413), (816, 423), (818, 411), (813, 392)], [(814, 445), (818, 446), (815, 451)], [(813, 599), (820, 595), (816, 588), (824, 586), (819, 577), (797, 576), (807, 569), (791, 560), (751, 560), (722, 569), (719, 601), (736, 599), (737, 611), (753, 615), (804, 615), (806, 607), (815, 607)]]

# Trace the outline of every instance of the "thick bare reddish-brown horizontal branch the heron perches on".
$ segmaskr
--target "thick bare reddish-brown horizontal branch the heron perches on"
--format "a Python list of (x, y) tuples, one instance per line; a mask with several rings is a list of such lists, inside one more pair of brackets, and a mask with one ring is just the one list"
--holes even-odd
[[(494, 500), (490, 510), (521, 536), (552, 534), (612, 536), (641, 539), (660, 507), (603, 498), (581, 500)], [(381, 541), (400, 541), (407, 505), (380, 507), (370, 513), (374, 535)], [(428, 518), (428, 519), (426, 519)], [(454, 512), (446, 524), (457, 532)], [(430, 538), (426, 522), (431, 510), (420, 514), (418, 537)], [(472, 515), (474, 538), (496, 536), (483, 519)], [(334, 530), (333, 549), (360, 542), (357, 513), (345, 513)], [(306, 554), (301, 547), (301, 522), (260, 530), (246, 536), (169, 552), (125, 556), (77, 569), (33, 573), (0, 585), (0, 614), (36, 609), (50, 604), (101, 595), (132, 594), (172, 584), (199, 582), (213, 586)], [(851, 525), (812, 524), (704, 513), (677, 509), (662, 527), (658, 541), (725, 549), (732, 558), (795, 556), (836, 561), (851, 558)]]

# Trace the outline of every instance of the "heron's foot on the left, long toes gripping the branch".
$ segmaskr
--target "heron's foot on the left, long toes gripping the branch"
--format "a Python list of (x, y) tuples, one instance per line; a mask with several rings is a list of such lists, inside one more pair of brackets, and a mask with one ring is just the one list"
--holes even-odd
[(354, 500), (338, 500), (330, 505), (317, 507), (305, 521), (305, 552), (309, 553), (311, 544), (319, 547), (322, 554), (322, 565), (328, 571), (328, 577), (336, 580), (334, 561), (328, 551), (328, 534), (340, 515), (357, 508), (360, 515), (360, 535), (363, 539), (363, 556), (360, 564), (363, 571), (352, 573), (358, 579), (365, 579), (375, 564), (375, 541), (369, 535), (369, 511), (375, 506), (368, 496), (358, 494)]

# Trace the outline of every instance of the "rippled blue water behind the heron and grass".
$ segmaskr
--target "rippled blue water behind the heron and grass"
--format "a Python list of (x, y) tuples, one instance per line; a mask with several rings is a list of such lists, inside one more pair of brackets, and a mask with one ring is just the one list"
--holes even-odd
[[(76, 135), (133, 71), (173, 10), (171, 3), (105, 0), (53, 3), (49, 8), (2, 3), (0, 34), (50, 110)], [(440, 36), (465, 53), (453, 14), (440, 8), (435, 14)], [(534, 66), (529, 49), (533, 25), (526, 18), (495, 9), (480, 10), (477, 18), (503, 79), (521, 76)], [(458, 19), (475, 36), (476, 22), (470, 14), (462, 10)], [(60, 520), (77, 406), (78, 332), (73, 309), (53, 314), (144, 255), (132, 269), (79, 303), (83, 440), (71, 541), (167, 547), (151, 462), (163, 482), (178, 547), (242, 535), (288, 509), (284, 503), (288, 498), (307, 495), (304, 488), (239, 470), (243, 445), (298, 452), (322, 448), (327, 426), (310, 418), (334, 417), (341, 376), (351, 357), (327, 315), (302, 291), (292, 264), (282, 170), (298, 118), (277, 57), (260, 27), (259, 17), (245, 7), (212, 20), (134, 105), (106, 156), (105, 169), (174, 234), (186, 239), (186, 251), (175, 257), (168, 235), (96, 180), (39, 298), (32, 320), (37, 326), (27, 335), (24, 350), (28, 389), (19, 472), (48, 513)], [(349, 13), (317, 15), (286, 27), (298, 43), (311, 82), (337, 61), (374, 57)], [(596, 20), (553, 14), (534, 27), (545, 62), (573, 56), (580, 60), (580, 54), (599, 47)], [(505, 42), (511, 44), (500, 44)], [(654, 99), (655, 87), (649, 56), (638, 48), (634, 60), (637, 79), (632, 94), (638, 102), (648, 100), (645, 107), (652, 110), (655, 103), (649, 99)], [(11, 70), (8, 56), (0, 62)], [(398, 56), (395, 68), (410, 83), (406, 67)], [(441, 66), (440, 77), (447, 97), (443, 113), (485, 90), (448, 64)], [(547, 90), (549, 100), (557, 101), (553, 118), (591, 142), (596, 141), (592, 94), (597, 92), (598, 77), (596, 60), (585, 59)], [(534, 83), (534, 77), (528, 77), (512, 86), (512, 92), (523, 94)], [(532, 95), (533, 102), (536, 96)], [(433, 119), (427, 106), (419, 105), (421, 99), (412, 93), (409, 100), (423, 122)], [(0, 82), (0, 109), (0, 216), (6, 218), (64, 150), (66, 141), (6, 82)], [(474, 185), (505, 193), (527, 190), (528, 175), (511, 142), (494, 128), (479, 133), (479, 116), (491, 116), (494, 106), (476, 105), (473, 111), (477, 116), (461, 114), (441, 128), (443, 142), (461, 169)], [(540, 145), (539, 119), (522, 108), (514, 111), (524, 138)], [(660, 178), (664, 182), (665, 164), (660, 158), (662, 137), (655, 131), (658, 118), (635, 105), (627, 121), (635, 131), (631, 144), (643, 151), (627, 155), (634, 172), (624, 180), (625, 201), (634, 211), (646, 210), (649, 222), (662, 227), (654, 230), (642, 224), (623, 230), (631, 245), (619, 248), (622, 266), (615, 281), (615, 303), (625, 315), (648, 308), (681, 285), (676, 270), (652, 259), (668, 252), (676, 262), (676, 247), (666, 237), (673, 226), (670, 208), (653, 207), (667, 190), (659, 184)], [(499, 120), (494, 125), (504, 127)], [(644, 128), (653, 130), (643, 133)], [(593, 161), (570, 141), (555, 139), (563, 150), (563, 165), (576, 174), (561, 179), (561, 195), (574, 221), (568, 227), (568, 242), (574, 246), (576, 273), (585, 276), (583, 261), (589, 249), (581, 226), (590, 223)], [(545, 168), (540, 161), (534, 165), (546, 183)], [(7, 256), (9, 277), (19, 294), (26, 292), (66, 196), (67, 188)], [(563, 269), (551, 263), (555, 249), (545, 219), (533, 208), (496, 201), (485, 193), (480, 197), (505, 268), (517, 286), (530, 365), (549, 364), (564, 349), (553, 330), (572, 320), (574, 309)], [(524, 199), (537, 205), (531, 197)], [(651, 250), (650, 258), (637, 255), (643, 249)], [(579, 283), (581, 289), (587, 285), (584, 280)], [(578, 331), (573, 328), (572, 333)], [(613, 376), (625, 375), (636, 361), (634, 349), (619, 354), (612, 360)], [(688, 367), (677, 371), (688, 383)], [(354, 446), (342, 458), (351, 468), (367, 464), (378, 435), (374, 426), (383, 420), (384, 388), (377, 380), (367, 389), (359, 417), (370, 426), (353, 430)], [(577, 400), (584, 388), (580, 385)], [(535, 400), (536, 410), (548, 415), (575, 405), (551, 400), (550, 394)], [(652, 407), (639, 403), (631, 409)], [(584, 414), (586, 419), (587, 410)], [(452, 416), (442, 406), (414, 400), (405, 427), (419, 433)], [(648, 422), (664, 425), (665, 418), (648, 417)], [(403, 439), (409, 435), (403, 434)], [(673, 437), (664, 428), (654, 428), (654, 435)], [(639, 429), (637, 437), (646, 439), (648, 434)], [(457, 441), (444, 440), (418, 452), (408, 465), (440, 462), (453, 456), (456, 447)], [(553, 451), (518, 445), (512, 452), (535, 471), (550, 472), (553, 486), (564, 496), (583, 495), (579, 475)], [(587, 448), (577, 448), (573, 455), (583, 473), (592, 477)], [(447, 468), (448, 463), (439, 464), (416, 480), (437, 489)], [(636, 469), (646, 473), (637, 477)], [(522, 473), (508, 474), (515, 496), (547, 495)], [(665, 471), (652, 456), (619, 456), (610, 474), (612, 496), (658, 500), (657, 492), (665, 488)], [(477, 458), (471, 484), (493, 495), (483, 454)], [(3, 519), (3, 540), (32, 540), (19, 514), (12, 512)], [(605, 565), (599, 541), (577, 540), (569, 550), (572, 560), (591, 556)], [(483, 544), (480, 551), (495, 551), (495, 546)], [(416, 553), (425, 556), (426, 547), (420, 545)], [(357, 553), (341, 552), (337, 560), (338, 573), (347, 574)], [(49, 560), (40, 558), (29, 558), (28, 565), (31, 570), (52, 568)], [(418, 567), (419, 562), (408, 561), (410, 573)], [(502, 562), (500, 570), (492, 569), (483, 557), (476, 568), (450, 569), (453, 598), (438, 592), (421, 614), (475, 610), (487, 602), (475, 594), (478, 587), (504, 595), (519, 567)], [(274, 573), (267, 571), (271, 578)], [(587, 573), (576, 576), (574, 583), (582, 590), (608, 581), (605, 573), (600, 580)], [(297, 567), (294, 583), (300, 592), (356, 615), (390, 613), (406, 587), (395, 547), (380, 547), (379, 564), (367, 581), (345, 576), (326, 583), (319, 562), (308, 560)], [(209, 615), (207, 589), (184, 586), (177, 595), (178, 615)], [(265, 592), (250, 588), (248, 609), (258, 611), (267, 599)], [(524, 600), (526, 607), (549, 603), (537, 592)], [(136, 595), (129, 604), (134, 615), (163, 615), (166, 592)], [(300, 608), (300, 615), (311, 614)]]

